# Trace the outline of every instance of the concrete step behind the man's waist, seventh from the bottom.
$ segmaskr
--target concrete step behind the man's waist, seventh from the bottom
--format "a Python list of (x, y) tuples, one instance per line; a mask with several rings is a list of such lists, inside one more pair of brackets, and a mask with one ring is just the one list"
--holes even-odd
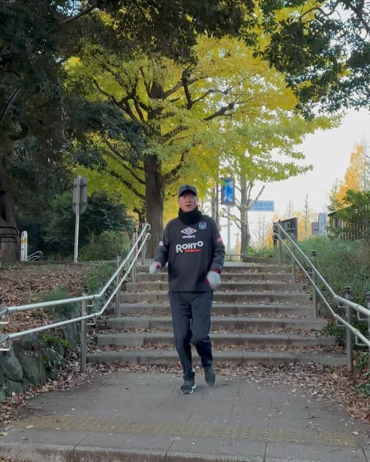
[[(291, 281), (291, 274), (289, 273), (223, 273), (221, 279), (223, 282), (237, 282), (237, 281)], [(153, 282), (153, 281), (168, 281), (168, 273), (137, 273), (136, 282)]]

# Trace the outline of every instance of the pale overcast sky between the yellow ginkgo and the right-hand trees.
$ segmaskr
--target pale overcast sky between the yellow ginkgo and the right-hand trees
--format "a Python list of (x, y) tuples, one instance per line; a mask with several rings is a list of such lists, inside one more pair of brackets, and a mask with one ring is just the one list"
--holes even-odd
[[(289, 199), (292, 200), (294, 209), (303, 210), (308, 193), (310, 208), (316, 213), (326, 211), (332, 184), (336, 178), (343, 180), (354, 145), (363, 141), (370, 145), (370, 111), (349, 110), (338, 128), (310, 134), (299, 146), (299, 150), (306, 156), (306, 163), (312, 164), (313, 170), (285, 181), (266, 184), (260, 200), (273, 200), (275, 212), (284, 215)], [(250, 212), (248, 215), (253, 227), (258, 220), (258, 212)], [(266, 221), (270, 222), (273, 213), (265, 215)], [(221, 224), (226, 224), (226, 220), (221, 221)], [(232, 245), (235, 242), (235, 233), (236, 227), (232, 226)], [(226, 244), (226, 227), (222, 229), (222, 236)]]

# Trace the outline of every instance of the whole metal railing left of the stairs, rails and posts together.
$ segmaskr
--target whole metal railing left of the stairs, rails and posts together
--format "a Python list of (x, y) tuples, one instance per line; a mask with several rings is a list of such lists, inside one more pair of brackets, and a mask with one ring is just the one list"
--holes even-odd
[[(43, 309), (43, 308), (47, 308), (50, 306), (68, 305), (68, 304), (72, 304), (76, 302), (81, 302), (81, 316), (71, 318), (68, 320), (54, 322), (52, 324), (46, 324), (38, 328), (28, 329), (26, 331), (13, 332), (13, 333), (0, 336), (0, 351), (9, 351), (11, 348), (12, 340), (16, 338), (25, 337), (25, 336), (35, 334), (38, 332), (43, 332), (49, 329), (61, 328), (67, 324), (72, 324), (75, 322), (81, 322), (81, 372), (85, 372), (86, 371), (87, 320), (93, 319), (93, 318), (96, 319), (99, 316), (101, 316), (104, 313), (106, 307), (109, 305), (109, 303), (113, 300), (115, 296), (116, 296), (115, 315), (119, 316), (121, 285), (126, 280), (130, 272), (132, 272), (133, 279), (135, 279), (136, 260), (139, 257), (139, 255), (141, 255), (141, 259), (142, 261), (144, 261), (146, 241), (150, 239), (151, 237), (150, 230), (151, 230), (151, 227), (149, 223), (144, 223), (142, 225), (141, 232), (136, 240), (135, 240), (136, 235), (134, 235), (135, 236), (133, 239), (134, 243), (133, 243), (133, 246), (131, 247), (130, 252), (128, 252), (126, 257), (123, 259), (121, 257), (117, 257), (116, 271), (108, 279), (108, 281), (106, 282), (106, 284), (104, 285), (104, 287), (98, 294), (86, 294), (86, 291), (84, 290), (82, 296), (79, 296), (79, 297), (71, 297), (71, 298), (65, 298), (61, 300), (46, 301), (46, 302), (39, 302), (39, 303), (28, 303), (28, 304), (18, 305), (18, 306), (6, 306), (3, 308), (0, 306), (0, 325), (6, 325), (10, 323), (10, 319), (12, 315), (19, 313), (21, 311)], [(124, 275), (121, 276), (121, 272), (125, 265), (127, 265), (127, 267), (125, 269)], [(114, 290), (112, 291), (112, 293), (110, 293), (110, 295), (108, 296), (107, 300), (105, 301), (101, 309), (97, 312), (87, 314), (87, 308), (94, 306), (96, 300), (99, 300), (100, 298), (104, 297), (106, 291), (108, 290), (108, 288), (112, 285), (114, 281), (116, 282), (116, 286)], [(90, 305), (88, 305), (88, 302), (90, 302)], [(7, 317), (6, 320), (4, 320), (5, 317)], [(1, 332), (0, 332), (0, 335), (1, 335)]]

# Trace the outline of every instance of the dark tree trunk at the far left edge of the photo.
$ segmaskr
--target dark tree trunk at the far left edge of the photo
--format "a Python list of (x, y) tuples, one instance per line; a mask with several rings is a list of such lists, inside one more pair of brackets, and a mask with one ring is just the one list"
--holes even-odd
[[(20, 243), (13, 229), (16, 228), (16, 214), (9, 187), (8, 155), (9, 152), (0, 151), (0, 260), (16, 261), (20, 259)], [(5, 234), (12, 234), (12, 237), (5, 238)]]

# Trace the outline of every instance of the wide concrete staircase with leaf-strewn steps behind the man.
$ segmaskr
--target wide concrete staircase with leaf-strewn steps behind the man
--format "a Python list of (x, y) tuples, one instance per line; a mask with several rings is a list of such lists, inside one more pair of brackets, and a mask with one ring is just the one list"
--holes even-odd
[[(110, 317), (101, 326), (89, 362), (179, 363), (167, 271), (150, 275), (148, 267), (137, 265), (137, 282), (127, 283), (121, 293), (121, 316)], [(289, 271), (289, 266), (273, 259), (225, 263), (212, 309), (216, 363), (345, 362), (335, 338), (321, 332), (327, 321), (313, 319), (309, 295), (302, 283), (291, 282)], [(199, 363), (195, 350), (193, 358)]]

